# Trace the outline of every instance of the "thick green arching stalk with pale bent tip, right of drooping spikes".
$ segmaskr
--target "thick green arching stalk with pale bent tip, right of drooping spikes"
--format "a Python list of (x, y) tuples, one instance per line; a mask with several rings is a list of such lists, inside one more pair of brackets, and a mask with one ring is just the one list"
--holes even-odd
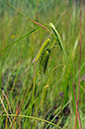
[[(79, 127), (81, 127), (81, 120), (80, 120), (80, 114), (79, 114), (79, 110), (78, 110), (78, 102), (77, 102), (77, 98), (76, 98), (75, 86), (74, 86), (73, 77), (72, 77), (72, 73), (71, 73), (71, 70), (70, 70), (69, 62), (68, 62), (67, 53), (66, 53), (64, 44), (62, 42), (62, 39), (61, 39), (58, 31), (56, 30), (55, 26), (52, 23), (50, 23), (50, 26), (51, 26), (53, 32), (55, 33), (55, 35), (56, 35), (56, 37), (58, 39), (59, 46), (60, 46), (60, 48), (61, 48), (61, 50), (63, 51), (63, 54), (64, 54), (64, 58), (65, 58), (65, 61), (66, 61), (66, 66), (67, 66), (67, 73), (68, 73), (69, 80), (70, 80), (70, 85), (71, 85), (71, 92), (72, 92), (72, 98), (73, 98), (74, 111), (75, 111), (75, 113), (77, 112), (77, 117), (78, 117), (78, 121), (79, 121)], [(65, 87), (65, 91), (67, 91), (67, 86)]]

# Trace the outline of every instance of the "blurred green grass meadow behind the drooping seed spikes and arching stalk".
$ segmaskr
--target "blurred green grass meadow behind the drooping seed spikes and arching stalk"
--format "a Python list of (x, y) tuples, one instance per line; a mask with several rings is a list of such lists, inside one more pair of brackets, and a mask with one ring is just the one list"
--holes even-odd
[[(10, 125), (20, 107), (20, 116), (14, 121), (14, 129), (73, 129), (75, 109), (71, 83), (64, 54), (54, 38), (49, 23), (55, 25), (62, 38), (77, 96), (80, 6), (65, 0), (9, 0), (9, 2), (27, 17), (45, 25), (52, 35), (49, 36), (41, 27), (37, 28), (36, 24), (27, 20), (5, 1), (0, 1), (0, 128), (11, 128)], [(83, 7), (79, 97), (82, 129), (85, 129), (84, 11)], [(34, 29), (36, 31), (31, 32)], [(21, 39), (24, 35), (26, 36)], [(50, 38), (51, 43), (54, 42), (55, 45), (50, 54), (46, 73), (40, 74), (39, 63), (35, 63), (34, 58), (47, 38)], [(15, 41), (15, 44), (7, 48)], [(6, 49), (1, 52), (4, 48)]]

